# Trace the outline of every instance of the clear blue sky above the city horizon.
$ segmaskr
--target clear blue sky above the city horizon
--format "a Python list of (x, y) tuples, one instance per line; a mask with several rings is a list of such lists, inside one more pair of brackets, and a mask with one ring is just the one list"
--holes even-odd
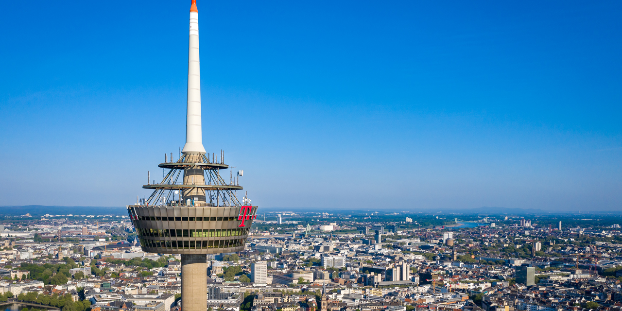
[[(185, 141), (190, 1), (0, 3), (0, 205), (123, 206)], [(253, 204), (622, 210), (620, 1), (198, 0)]]

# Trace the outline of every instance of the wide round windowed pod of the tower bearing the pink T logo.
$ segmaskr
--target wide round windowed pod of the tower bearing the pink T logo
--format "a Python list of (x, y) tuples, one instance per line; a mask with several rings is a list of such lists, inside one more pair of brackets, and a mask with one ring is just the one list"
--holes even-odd
[(243, 251), (256, 213), (257, 207), (128, 205), (142, 250), (160, 254)]

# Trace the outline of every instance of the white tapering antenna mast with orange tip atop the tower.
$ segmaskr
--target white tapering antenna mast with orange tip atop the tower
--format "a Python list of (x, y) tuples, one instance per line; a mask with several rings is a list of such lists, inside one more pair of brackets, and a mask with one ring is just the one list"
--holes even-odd
[(198, 55), (198, 11), (195, 1), (190, 9), (190, 38), (188, 40), (188, 110), (186, 115), (186, 144), (183, 154), (205, 154), (201, 133), (201, 75)]

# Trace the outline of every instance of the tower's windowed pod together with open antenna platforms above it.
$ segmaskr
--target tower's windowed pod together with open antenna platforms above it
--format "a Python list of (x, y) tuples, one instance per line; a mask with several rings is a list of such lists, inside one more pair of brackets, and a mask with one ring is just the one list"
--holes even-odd
[[(143, 185), (154, 190), (147, 199), (128, 205), (143, 251), (164, 254), (220, 254), (243, 251), (257, 207), (244, 197), (233, 172), (225, 181), (218, 172), (232, 169), (220, 157), (180, 154), (177, 162), (158, 164), (169, 169), (159, 183)], [(150, 180), (151, 181), (151, 180)], [(197, 181), (195, 183), (195, 181)], [(179, 190), (179, 191), (175, 191)], [(140, 202), (139, 202), (140, 201)]]

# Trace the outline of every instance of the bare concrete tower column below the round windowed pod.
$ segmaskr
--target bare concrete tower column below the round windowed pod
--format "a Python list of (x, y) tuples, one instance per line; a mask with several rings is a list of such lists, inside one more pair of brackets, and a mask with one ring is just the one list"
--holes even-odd
[(207, 310), (207, 256), (182, 254), (182, 311)]

